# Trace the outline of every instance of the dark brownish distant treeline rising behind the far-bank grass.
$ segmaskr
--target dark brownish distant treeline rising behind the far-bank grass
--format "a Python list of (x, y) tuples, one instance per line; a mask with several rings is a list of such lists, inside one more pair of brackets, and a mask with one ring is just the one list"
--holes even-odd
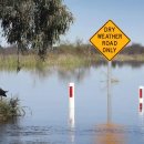
[[(23, 54), (32, 54), (34, 53), (33, 50), (29, 50), (23, 52)], [(56, 53), (56, 54), (99, 54), (100, 52), (91, 44), (85, 44), (82, 42), (76, 43), (61, 43), (56, 47), (53, 47), (49, 53)], [(133, 54), (143, 54), (144, 47), (137, 43), (133, 43), (131, 45), (125, 47), (121, 52), (121, 54), (133, 55)], [(8, 54), (17, 54), (17, 47), (10, 45), (8, 48), (0, 47), (0, 54), (8, 55)]]

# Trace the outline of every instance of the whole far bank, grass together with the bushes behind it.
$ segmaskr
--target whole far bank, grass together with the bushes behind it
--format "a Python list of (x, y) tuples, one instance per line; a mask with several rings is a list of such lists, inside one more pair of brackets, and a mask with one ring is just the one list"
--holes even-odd
[[(20, 65), (17, 61), (17, 47), (0, 49), (0, 69), (17, 70), (22, 69), (42, 69), (45, 66), (65, 66), (76, 68), (92, 65), (96, 62), (106, 62), (106, 59), (93, 48), (90, 43), (83, 43), (76, 40), (75, 43), (61, 42), (58, 47), (49, 49), (45, 61), (40, 61), (38, 51), (30, 49), (20, 55)], [(144, 47), (133, 43), (124, 48), (113, 61), (117, 62), (144, 62)]]

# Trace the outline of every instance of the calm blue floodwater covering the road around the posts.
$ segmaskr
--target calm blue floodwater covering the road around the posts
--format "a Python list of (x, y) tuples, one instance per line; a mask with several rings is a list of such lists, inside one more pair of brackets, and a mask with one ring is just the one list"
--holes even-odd
[[(144, 64), (112, 63), (112, 80), (109, 88), (106, 63), (0, 71), (0, 86), (9, 90), (8, 97), (17, 95), (27, 106), (24, 117), (0, 124), (0, 144), (143, 144), (138, 86), (144, 85)], [(72, 112), (70, 82), (75, 83)]]

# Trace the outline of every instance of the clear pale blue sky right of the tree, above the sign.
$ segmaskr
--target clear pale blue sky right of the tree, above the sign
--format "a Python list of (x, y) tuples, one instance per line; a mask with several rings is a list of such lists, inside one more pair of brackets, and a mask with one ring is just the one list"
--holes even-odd
[(144, 0), (64, 0), (64, 3), (75, 17), (64, 39), (88, 42), (111, 19), (132, 42), (144, 45)]

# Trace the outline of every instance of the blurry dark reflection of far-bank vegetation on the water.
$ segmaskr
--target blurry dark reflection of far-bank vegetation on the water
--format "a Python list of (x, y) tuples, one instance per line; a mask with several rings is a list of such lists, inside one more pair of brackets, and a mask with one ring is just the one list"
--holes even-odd
[[(113, 61), (112, 62), (112, 68), (122, 68), (122, 66), (131, 66), (133, 69), (140, 69), (144, 63), (143, 62), (135, 62), (135, 61), (130, 61), (130, 62), (117, 62)], [(53, 68), (41, 68), (38, 66), (35, 68), (34, 71), (31, 71), (32, 74), (34, 74), (37, 78), (39, 76), (40, 79), (44, 79), (48, 76), (51, 76), (53, 73), (58, 73), (60, 80), (76, 80), (78, 82), (83, 81), (84, 78), (86, 78), (90, 74), (90, 69), (95, 68), (100, 69), (101, 66), (106, 66), (105, 61), (101, 62), (95, 62), (92, 65), (84, 65), (81, 68), (64, 68), (64, 66), (53, 66)]]

